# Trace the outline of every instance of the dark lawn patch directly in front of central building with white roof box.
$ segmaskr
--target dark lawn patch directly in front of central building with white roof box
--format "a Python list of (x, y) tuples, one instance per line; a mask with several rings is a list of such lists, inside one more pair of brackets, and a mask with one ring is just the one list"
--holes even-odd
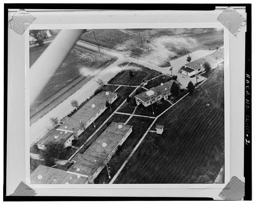
[(170, 107), (171, 105), (172, 104), (170, 104), (168, 101), (158, 101), (158, 102), (152, 104), (153, 110), (154, 110), (154, 114), (153, 114), (151, 105), (144, 107), (142, 104), (140, 104), (134, 114), (156, 117), (159, 114), (161, 114), (164, 110), (166, 110), (168, 107)]

